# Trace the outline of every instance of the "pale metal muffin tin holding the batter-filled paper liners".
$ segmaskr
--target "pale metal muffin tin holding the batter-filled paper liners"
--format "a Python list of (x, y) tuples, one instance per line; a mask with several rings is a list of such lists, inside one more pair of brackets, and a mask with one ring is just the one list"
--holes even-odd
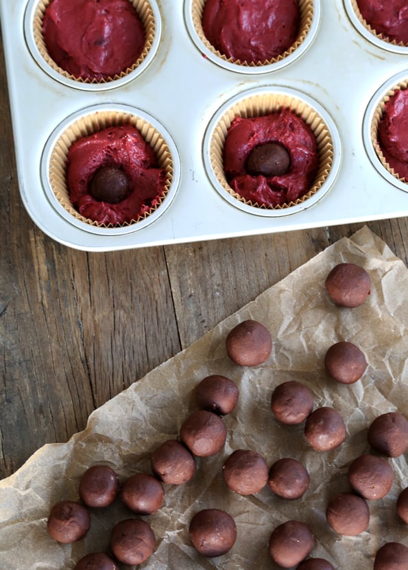
[[(408, 78), (408, 47), (368, 36), (351, 0), (313, 1), (302, 44), (264, 67), (226, 65), (210, 54), (193, 23), (193, 0), (150, 0), (150, 6), (155, 32), (140, 68), (94, 84), (65, 78), (45, 62), (34, 38), (38, 0), (0, 5), (21, 198), (47, 235), (72, 248), (108, 251), (408, 215), (408, 184), (387, 173), (368, 135), (379, 97)], [(214, 177), (211, 130), (237, 99), (285, 91), (326, 122), (331, 171), (302, 204), (276, 211), (243, 207)], [(171, 141), (176, 177), (166, 207), (149, 220), (154, 223), (95, 231), (74, 223), (49, 193), (45, 163), (52, 141), (95, 108), (129, 108)]]

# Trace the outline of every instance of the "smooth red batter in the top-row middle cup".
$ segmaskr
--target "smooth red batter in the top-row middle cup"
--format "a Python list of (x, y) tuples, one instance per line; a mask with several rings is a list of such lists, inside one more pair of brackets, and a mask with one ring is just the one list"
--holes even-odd
[(296, 0), (207, 0), (202, 27), (208, 41), (233, 60), (256, 63), (276, 58), (298, 35)]

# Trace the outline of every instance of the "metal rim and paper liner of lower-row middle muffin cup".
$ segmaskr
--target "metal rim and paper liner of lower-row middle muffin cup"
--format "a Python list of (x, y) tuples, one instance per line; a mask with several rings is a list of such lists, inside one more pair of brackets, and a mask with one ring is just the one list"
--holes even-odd
[[(235, 117), (256, 117), (289, 108), (302, 117), (315, 134), (319, 153), (319, 169), (311, 189), (296, 202), (267, 208), (241, 198), (228, 185), (224, 174), (224, 143)], [(280, 217), (309, 208), (328, 192), (337, 177), (341, 163), (340, 137), (333, 119), (311, 97), (290, 88), (263, 86), (232, 97), (215, 113), (204, 136), (204, 165), (217, 192), (230, 204), (258, 216)]]

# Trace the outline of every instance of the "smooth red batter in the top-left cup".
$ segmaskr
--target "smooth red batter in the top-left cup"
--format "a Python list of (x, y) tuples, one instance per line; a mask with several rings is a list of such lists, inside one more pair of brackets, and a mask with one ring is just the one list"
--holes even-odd
[(128, 0), (52, 0), (43, 34), (53, 61), (89, 80), (119, 75), (145, 45), (143, 23)]

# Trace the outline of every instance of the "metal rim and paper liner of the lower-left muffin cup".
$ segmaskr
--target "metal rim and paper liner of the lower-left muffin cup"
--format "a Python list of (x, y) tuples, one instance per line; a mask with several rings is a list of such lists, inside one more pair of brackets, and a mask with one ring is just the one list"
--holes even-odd
[[(158, 165), (165, 169), (167, 190), (160, 204), (145, 217), (130, 224), (110, 227), (83, 217), (74, 209), (69, 200), (66, 163), (69, 147), (74, 141), (104, 128), (119, 125), (134, 126), (152, 146)], [(53, 130), (41, 156), (40, 178), (49, 202), (67, 222), (88, 233), (121, 235), (145, 228), (169, 208), (180, 182), (180, 158), (171, 135), (154, 117), (130, 106), (101, 104), (75, 112)]]

